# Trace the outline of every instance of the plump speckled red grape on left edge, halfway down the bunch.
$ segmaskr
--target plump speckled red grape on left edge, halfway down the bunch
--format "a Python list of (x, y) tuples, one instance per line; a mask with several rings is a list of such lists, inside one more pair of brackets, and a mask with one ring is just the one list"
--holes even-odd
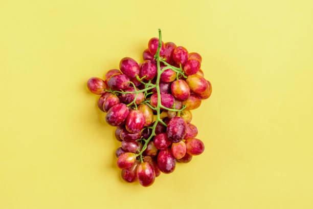
[(123, 103), (119, 103), (107, 111), (105, 120), (111, 126), (121, 126), (125, 122), (128, 114), (128, 107)]

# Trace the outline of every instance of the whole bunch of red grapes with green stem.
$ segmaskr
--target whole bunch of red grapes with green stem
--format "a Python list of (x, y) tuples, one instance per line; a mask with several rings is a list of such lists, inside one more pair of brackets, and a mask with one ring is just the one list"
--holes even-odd
[[(204, 152), (190, 110), (210, 97), (212, 86), (200, 69), (202, 57), (172, 42), (164, 44), (160, 29), (143, 59), (138, 64), (124, 57), (120, 70), (109, 70), (104, 79), (90, 78), (87, 87), (101, 95), (98, 107), (106, 112), (106, 122), (117, 127), (122, 178), (149, 186), (161, 172), (173, 172), (176, 161), (187, 163)], [(161, 112), (167, 117), (161, 119)]]

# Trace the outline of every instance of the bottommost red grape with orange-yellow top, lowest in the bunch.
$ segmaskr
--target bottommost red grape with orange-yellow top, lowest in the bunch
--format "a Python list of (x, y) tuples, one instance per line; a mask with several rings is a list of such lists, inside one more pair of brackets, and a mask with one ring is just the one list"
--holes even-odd
[(137, 179), (143, 186), (150, 186), (155, 179), (155, 174), (150, 163), (142, 162), (137, 166)]

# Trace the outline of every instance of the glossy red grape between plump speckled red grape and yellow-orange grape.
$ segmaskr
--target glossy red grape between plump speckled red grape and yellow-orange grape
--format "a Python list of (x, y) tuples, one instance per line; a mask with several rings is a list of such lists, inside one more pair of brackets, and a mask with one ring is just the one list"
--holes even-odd
[(131, 110), (126, 118), (125, 127), (129, 133), (135, 134), (142, 130), (145, 122), (146, 118), (140, 110)]

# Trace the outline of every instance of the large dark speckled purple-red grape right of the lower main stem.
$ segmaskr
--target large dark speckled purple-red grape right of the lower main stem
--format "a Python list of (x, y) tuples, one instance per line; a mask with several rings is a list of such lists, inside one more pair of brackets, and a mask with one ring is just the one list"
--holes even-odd
[(187, 124), (182, 117), (173, 117), (166, 128), (169, 140), (174, 143), (180, 142), (186, 135)]

